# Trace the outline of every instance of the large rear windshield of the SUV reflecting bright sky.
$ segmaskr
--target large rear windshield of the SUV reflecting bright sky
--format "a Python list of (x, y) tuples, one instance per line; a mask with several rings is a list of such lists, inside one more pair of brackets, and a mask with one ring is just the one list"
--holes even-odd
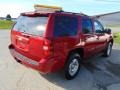
[(20, 16), (15, 24), (13, 30), (43, 36), (46, 30), (46, 25), (48, 22), (48, 17), (28, 17)]

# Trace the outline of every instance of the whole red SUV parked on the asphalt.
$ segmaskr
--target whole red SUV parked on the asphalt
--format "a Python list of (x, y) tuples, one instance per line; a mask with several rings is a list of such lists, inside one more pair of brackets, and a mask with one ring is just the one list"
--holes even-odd
[(22, 13), (11, 30), (10, 52), (15, 60), (41, 73), (63, 69), (74, 78), (87, 58), (112, 50), (111, 30), (94, 18), (57, 11)]

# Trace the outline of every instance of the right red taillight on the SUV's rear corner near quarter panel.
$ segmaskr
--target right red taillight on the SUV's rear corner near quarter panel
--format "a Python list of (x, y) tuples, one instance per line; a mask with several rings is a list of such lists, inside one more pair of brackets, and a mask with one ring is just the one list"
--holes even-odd
[(45, 56), (53, 56), (54, 47), (50, 40), (45, 40), (43, 44), (43, 51)]

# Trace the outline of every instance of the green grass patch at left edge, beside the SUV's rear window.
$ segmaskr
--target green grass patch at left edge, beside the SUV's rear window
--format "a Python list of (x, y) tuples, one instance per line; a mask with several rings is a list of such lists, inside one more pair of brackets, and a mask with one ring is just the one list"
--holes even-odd
[(0, 20), (0, 29), (11, 29), (14, 22), (9, 20)]

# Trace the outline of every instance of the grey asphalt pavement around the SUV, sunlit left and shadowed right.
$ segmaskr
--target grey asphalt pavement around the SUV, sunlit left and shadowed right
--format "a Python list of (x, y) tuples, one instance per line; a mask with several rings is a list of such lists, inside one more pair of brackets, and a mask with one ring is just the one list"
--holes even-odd
[(10, 31), (0, 30), (0, 90), (120, 90), (120, 46), (110, 57), (97, 56), (83, 64), (78, 76), (66, 80), (61, 72), (41, 75), (10, 55)]

